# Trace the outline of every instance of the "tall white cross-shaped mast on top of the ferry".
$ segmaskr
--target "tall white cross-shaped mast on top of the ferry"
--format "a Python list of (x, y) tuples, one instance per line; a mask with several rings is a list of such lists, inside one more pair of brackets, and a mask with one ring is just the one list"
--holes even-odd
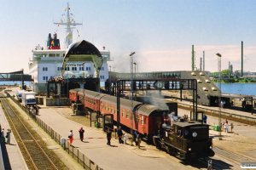
[[(67, 13), (66, 13), (66, 22), (61, 21), (61, 22), (54, 22), (55, 25), (58, 26), (66, 26), (66, 39), (65, 39), (65, 44), (66, 44), (66, 48), (68, 48), (68, 46), (70, 44), (73, 43), (73, 28), (75, 28), (74, 26), (79, 26), (82, 25), (82, 23), (76, 23), (75, 20), (73, 20), (72, 17), (70, 17), (70, 7), (69, 7), (69, 3), (67, 3)], [(71, 27), (73, 26), (73, 27)]]

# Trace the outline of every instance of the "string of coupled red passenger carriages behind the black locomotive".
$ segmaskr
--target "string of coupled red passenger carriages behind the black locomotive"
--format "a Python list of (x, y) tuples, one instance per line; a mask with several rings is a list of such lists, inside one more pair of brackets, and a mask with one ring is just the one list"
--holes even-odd
[[(96, 111), (101, 115), (113, 114), (113, 120), (117, 121), (116, 96), (78, 88), (70, 90), (69, 96), (71, 101), (79, 99), (84, 109)], [(163, 122), (163, 113), (164, 111), (154, 105), (144, 105), (137, 101), (132, 101), (131, 104), (129, 99), (120, 99), (120, 124), (123, 127), (137, 129), (139, 133), (150, 138)]]

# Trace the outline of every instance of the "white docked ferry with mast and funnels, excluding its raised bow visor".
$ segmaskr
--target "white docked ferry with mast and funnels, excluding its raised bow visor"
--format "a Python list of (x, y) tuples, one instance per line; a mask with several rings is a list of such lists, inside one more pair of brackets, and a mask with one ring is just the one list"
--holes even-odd
[[(69, 46), (73, 44), (73, 28), (81, 25), (76, 23), (71, 17), (70, 7), (67, 3), (66, 21), (54, 23), (58, 26), (66, 26), (66, 40), (64, 48), (61, 48), (60, 40), (57, 33), (52, 35), (49, 33), (46, 47), (38, 45), (32, 49), (32, 57), (29, 59), (29, 74), (32, 75), (32, 90), (37, 94), (46, 94), (47, 82), (51, 78), (61, 78), (62, 63)], [(72, 27), (71, 27), (72, 26)], [(108, 79), (108, 61), (110, 61), (110, 52), (105, 47), (99, 50), (102, 54), (102, 67), (100, 69), (99, 78), (103, 85)], [(96, 68), (92, 62), (68, 62), (65, 68), (64, 77), (96, 77)]]

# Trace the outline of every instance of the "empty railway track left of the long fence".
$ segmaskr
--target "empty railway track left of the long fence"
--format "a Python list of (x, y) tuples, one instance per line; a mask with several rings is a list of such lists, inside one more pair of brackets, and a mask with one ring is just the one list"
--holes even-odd
[(18, 111), (15, 111), (12, 105), (9, 104), (8, 99), (2, 98), (1, 103), (28, 168), (42, 170), (58, 169), (44, 151), (41, 146), (42, 144), (39, 144), (40, 139), (35, 139), (29, 126), (20, 118)]

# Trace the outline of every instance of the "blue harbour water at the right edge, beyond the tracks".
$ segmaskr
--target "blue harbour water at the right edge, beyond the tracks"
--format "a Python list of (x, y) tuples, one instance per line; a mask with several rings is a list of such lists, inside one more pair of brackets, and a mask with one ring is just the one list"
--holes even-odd
[(221, 92), (256, 96), (256, 83), (221, 83)]

